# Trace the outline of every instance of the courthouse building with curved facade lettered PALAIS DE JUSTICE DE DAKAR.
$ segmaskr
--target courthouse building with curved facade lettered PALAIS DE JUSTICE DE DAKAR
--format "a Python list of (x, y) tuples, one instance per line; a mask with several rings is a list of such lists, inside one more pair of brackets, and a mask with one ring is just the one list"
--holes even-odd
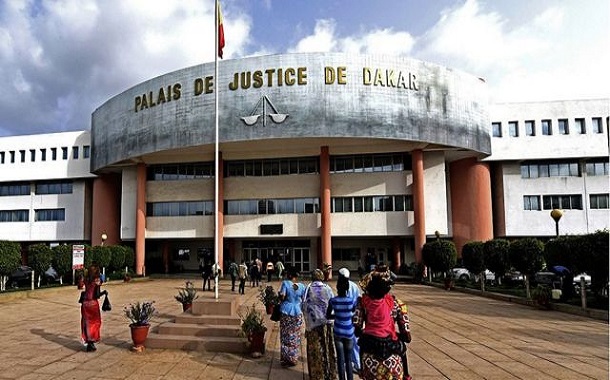
[(309, 271), (419, 262), (436, 233), (550, 238), (554, 208), (561, 234), (608, 228), (608, 99), (490, 104), (479, 77), (377, 55), (219, 65), (127, 89), (90, 131), (0, 138), (0, 239), (105, 234), (140, 274), (197, 270), (217, 239), (221, 264)]

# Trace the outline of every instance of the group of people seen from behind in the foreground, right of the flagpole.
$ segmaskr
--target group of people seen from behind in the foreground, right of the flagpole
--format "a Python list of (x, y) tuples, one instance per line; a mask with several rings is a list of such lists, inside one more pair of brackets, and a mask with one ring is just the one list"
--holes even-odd
[(298, 363), (304, 323), (310, 379), (352, 380), (354, 371), (365, 380), (411, 379), (409, 317), (406, 305), (390, 293), (392, 272), (377, 266), (360, 286), (349, 276), (348, 269), (339, 270), (335, 296), (322, 270), (313, 271), (307, 286), (296, 270), (288, 270), (279, 289), (281, 365)]

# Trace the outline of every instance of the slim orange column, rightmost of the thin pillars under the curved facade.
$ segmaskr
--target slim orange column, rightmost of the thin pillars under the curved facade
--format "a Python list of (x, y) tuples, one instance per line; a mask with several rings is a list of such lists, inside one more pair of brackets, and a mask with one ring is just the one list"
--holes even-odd
[(424, 199), (424, 153), (411, 152), (413, 170), (413, 235), (415, 238), (415, 262), (421, 263), (421, 251), (426, 243), (426, 211)]

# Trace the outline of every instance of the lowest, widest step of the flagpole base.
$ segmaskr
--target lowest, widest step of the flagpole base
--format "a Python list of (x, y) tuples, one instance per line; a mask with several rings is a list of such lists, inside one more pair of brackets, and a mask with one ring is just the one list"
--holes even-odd
[(248, 352), (247, 339), (242, 337), (201, 337), (170, 335), (150, 332), (146, 339), (147, 348), (166, 348), (185, 351)]

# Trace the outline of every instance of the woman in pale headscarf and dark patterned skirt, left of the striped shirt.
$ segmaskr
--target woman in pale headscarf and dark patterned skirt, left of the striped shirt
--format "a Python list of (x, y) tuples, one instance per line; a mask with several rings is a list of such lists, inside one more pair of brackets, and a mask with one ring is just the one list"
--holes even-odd
[(331, 287), (323, 282), (324, 272), (320, 269), (313, 272), (312, 280), (305, 290), (303, 301), (309, 378), (334, 380), (337, 378), (337, 355), (332, 321), (326, 318), (328, 302), (334, 294)]

